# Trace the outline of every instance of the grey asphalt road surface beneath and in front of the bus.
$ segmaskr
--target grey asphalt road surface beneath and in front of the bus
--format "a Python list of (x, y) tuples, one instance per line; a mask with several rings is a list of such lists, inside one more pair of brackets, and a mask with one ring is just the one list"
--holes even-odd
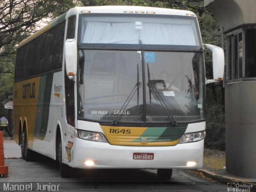
[[(101, 191), (101, 192), (227, 192), (227, 186), (202, 179), (189, 170), (173, 170), (170, 180), (161, 180), (156, 170), (72, 170), (61, 178), (50, 159), (26, 162), (6, 159), (9, 175), (0, 178), (0, 191)], [(16, 187), (16, 188), (15, 188)]]

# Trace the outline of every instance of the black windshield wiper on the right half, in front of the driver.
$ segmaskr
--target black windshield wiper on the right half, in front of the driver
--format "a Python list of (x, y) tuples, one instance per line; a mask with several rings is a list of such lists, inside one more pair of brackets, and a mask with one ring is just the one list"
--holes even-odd
[[(148, 74), (149, 74), (149, 68), (148, 68)], [(174, 117), (172, 116), (172, 113), (170, 112), (170, 110), (166, 106), (166, 103), (164, 102), (162, 96), (156, 90), (155, 85), (157, 83), (162, 83), (165, 86), (164, 80), (150, 80), (150, 76), (148, 76), (148, 84), (147, 85), (148, 85), (148, 88), (150, 90), (150, 104), (151, 104), (151, 92), (152, 92), (154, 98), (156, 98), (156, 101), (160, 102), (162, 108), (164, 109), (164, 112), (168, 116), (168, 118), (169, 118), (170, 122), (172, 123), (172, 125), (177, 125), (176, 120), (174, 119)]]

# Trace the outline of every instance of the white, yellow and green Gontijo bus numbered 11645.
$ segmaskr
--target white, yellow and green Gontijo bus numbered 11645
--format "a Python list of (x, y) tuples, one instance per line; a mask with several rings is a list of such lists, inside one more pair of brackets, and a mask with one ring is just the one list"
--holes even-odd
[[(206, 80), (205, 47), (214, 79)], [(202, 44), (190, 11), (76, 7), (18, 46), (14, 134), (72, 168), (202, 168), (205, 85), (222, 80), (224, 53)]]

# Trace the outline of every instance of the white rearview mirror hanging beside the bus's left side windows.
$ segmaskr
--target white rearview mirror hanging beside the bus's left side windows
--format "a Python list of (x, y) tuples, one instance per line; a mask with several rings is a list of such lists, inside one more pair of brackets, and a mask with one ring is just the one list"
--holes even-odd
[(77, 43), (76, 39), (67, 39), (65, 42), (65, 64), (68, 78), (74, 79), (77, 71)]

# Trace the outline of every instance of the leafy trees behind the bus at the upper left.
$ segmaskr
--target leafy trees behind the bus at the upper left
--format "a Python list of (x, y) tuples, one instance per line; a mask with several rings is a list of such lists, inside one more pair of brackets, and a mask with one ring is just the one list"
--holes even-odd
[[(19, 42), (45, 22), (81, 4), (70, 0), (2, 0), (0, 1), (0, 111), (12, 96), (14, 62)], [(45, 25), (45, 23), (44, 23)]]

